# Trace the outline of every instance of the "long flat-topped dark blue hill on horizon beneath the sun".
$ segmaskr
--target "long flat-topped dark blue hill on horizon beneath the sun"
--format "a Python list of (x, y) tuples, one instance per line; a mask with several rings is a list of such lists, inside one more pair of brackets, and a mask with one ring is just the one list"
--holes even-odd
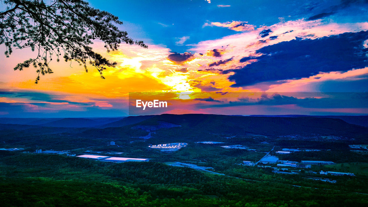
[(230, 134), (262, 134), (266, 136), (282, 136), (290, 134), (321, 134), (349, 136), (367, 133), (368, 128), (349, 124), (341, 119), (320, 117), (251, 117), (185, 114), (163, 114), (150, 117), (134, 125), (158, 125), (158, 122), (169, 122), (181, 125), (177, 131), (207, 131), (210, 133)]

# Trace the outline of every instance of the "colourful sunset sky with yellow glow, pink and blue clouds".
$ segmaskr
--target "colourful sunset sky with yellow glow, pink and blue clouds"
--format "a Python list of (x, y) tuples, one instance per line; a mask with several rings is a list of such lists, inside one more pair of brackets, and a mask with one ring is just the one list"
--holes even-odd
[[(95, 41), (117, 62), (105, 80), (93, 66), (53, 62), (38, 84), (35, 69), (13, 70), (31, 51), (0, 55), (0, 117), (368, 114), (365, 0), (88, 2), (148, 49), (107, 53)], [(170, 107), (131, 110), (134, 92)]]

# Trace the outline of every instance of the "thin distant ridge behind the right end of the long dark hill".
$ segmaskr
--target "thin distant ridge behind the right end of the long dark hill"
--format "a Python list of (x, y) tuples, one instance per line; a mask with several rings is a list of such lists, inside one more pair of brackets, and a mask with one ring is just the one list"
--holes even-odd
[[(261, 117), (302, 117), (308, 115), (251, 115), (251, 116), (261, 116)], [(368, 115), (365, 116), (310, 116), (310, 117), (320, 117), (320, 118), (333, 118), (341, 119), (349, 124), (357, 124), (360, 126), (368, 127)]]

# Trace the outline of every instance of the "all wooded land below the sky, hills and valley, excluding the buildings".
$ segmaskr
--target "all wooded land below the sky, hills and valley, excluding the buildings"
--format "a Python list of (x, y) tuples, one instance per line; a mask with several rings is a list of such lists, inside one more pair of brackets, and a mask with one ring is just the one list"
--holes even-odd
[[(158, 121), (181, 127), (152, 131), (152, 137), (147, 140), (139, 137), (146, 136), (148, 131), (132, 129), (136, 125), (155, 125)], [(1, 207), (358, 207), (368, 204), (368, 154), (348, 148), (349, 144), (368, 144), (367, 128), (314, 117), (161, 115), (137, 117), (132, 123), (114, 122), (117, 127), (105, 129), (0, 124), (0, 148), (23, 147), (29, 152), (37, 148), (70, 150), (77, 155), (88, 150), (93, 151), (91, 154), (150, 159), (117, 164), (66, 155), (0, 151)], [(293, 133), (297, 135), (284, 136)], [(109, 145), (110, 141), (116, 145)], [(150, 144), (173, 142), (188, 145), (175, 152), (148, 148)], [(220, 147), (235, 144), (246, 145), (256, 152)], [(278, 174), (272, 168), (239, 165), (245, 160), (258, 161), (273, 147), (270, 155), (276, 155), (275, 151), (282, 148), (321, 149), (277, 156), (282, 160), (326, 160), (337, 164), (312, 166), (293, 175)], [(224, 175), (168, 165), (173, 162), (212, 167), (208, 170)], [(320, 175), (310, 170), (351, 172), (356, 176)], [(336, 180), (336, 183), (308, 179), (314, 177)]]

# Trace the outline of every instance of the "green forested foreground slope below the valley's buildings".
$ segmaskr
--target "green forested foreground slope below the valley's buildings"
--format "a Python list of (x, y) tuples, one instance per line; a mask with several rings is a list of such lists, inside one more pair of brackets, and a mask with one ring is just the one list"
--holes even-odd
[[(158, 162), (113, 164), (61, 155), (0, 154), (2, 206), (367, 206), (368, 189), (294, 181), (259, 168), (239, 176), (202, 173)], [(365, 178), (365, 177), (364, 177)], [(358, 178), (339, 182), (357, 183)], [(366, 179), (366, 178), (365, 178)], [(348, 186), (348, 184), (346, 185)], [(326, 190), (331, 189), (331, 190)], [(354, 193), (361, 192), (361, 193)]]

